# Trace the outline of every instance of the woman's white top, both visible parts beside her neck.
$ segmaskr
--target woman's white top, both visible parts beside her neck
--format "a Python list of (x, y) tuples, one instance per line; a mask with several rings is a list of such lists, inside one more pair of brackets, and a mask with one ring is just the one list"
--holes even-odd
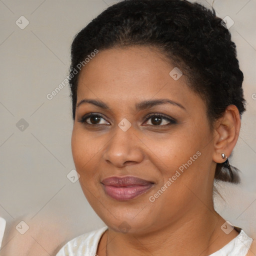
[[(67, 242), (56, 256), (95, 256), (98, 242), (107, 226), (82, 234)], [(221, 249), (209, 256), (245, 256), (252, 238), (241, 229), (240, 233)]]

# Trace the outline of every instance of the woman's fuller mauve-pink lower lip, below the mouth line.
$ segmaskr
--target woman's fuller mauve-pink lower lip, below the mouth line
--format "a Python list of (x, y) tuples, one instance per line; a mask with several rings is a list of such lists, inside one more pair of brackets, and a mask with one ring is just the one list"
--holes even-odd
[(134, 186), (109, 186), (104, 185), (105, 193), (116, 200), (130, 200), (140, 194), (145, 193), (152, 187), (153, 184), (148, 185), (134, 185)]

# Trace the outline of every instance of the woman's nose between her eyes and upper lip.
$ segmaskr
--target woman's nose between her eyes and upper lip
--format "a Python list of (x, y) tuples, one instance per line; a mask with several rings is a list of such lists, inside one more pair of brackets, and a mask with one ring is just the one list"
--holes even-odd
[(114, 135), (103, 151), (103, 158), (115, 167), (139, 163), (143, 160), (143, 142), (132, 126), (126, 131), (116, 125)]

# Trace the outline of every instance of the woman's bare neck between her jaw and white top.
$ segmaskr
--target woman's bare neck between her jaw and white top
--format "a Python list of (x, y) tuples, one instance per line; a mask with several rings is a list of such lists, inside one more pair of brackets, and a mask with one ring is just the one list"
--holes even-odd
[(175, 223), (153, 232), (120, 233), (109, 228), (105, 255), (206, 256), (223, 247), (237, 235), (235, 230), (225, 234), (220, 228), (224, 222), (213, 209), (207, 209), (207, 212), (201, 209), (196, 214), (189, 213), (189, 218), (183, 216)]

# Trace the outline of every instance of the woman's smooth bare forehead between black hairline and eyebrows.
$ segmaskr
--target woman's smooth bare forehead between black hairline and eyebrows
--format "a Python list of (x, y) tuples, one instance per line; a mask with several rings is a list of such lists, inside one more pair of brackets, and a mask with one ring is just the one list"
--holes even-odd
[(166, 97), (191, 101), (197, 95), (185, 75), (173, 79), (173, 68), (160, 51), (147, 46), (99, 51), (80, 71), (77, 102), (84, 97), (118, 104)]

